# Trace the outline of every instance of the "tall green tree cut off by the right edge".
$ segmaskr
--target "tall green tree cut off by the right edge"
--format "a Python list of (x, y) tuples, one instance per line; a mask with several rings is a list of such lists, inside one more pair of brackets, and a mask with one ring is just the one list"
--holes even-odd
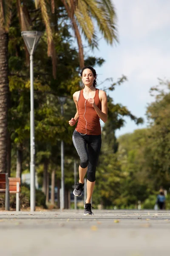
[(170, 183), (170, 82), (159, 80), (159, 85), (151, 88), (156, 92), (155, 101), (147, 107), (149, 122), (146, 160), (148, 178), (153, 188), (160, 186), (169, 189)]

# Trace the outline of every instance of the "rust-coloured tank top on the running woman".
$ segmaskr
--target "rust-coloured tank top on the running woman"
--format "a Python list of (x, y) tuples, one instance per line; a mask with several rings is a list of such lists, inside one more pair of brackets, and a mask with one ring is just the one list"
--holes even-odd
[[(86, 103), (85, 103), (86, 101)], [(96, 93), (94, 96), (94, 101), (96, 106), (102, 110), (102, 105), (99, 99), (99, 89), (96, 89)], [(86, 105), (86, 111), (85, 111)], [(101, 134), (101, 126), (100, 126), (100, 118), (96, 113), (94, 107), (88, 103), (88, 101), (83, 96), (83, 90), (80, 91), (79, 99), (78, 99), (78, 108), (79, 108), (79, 120), (76, 127), (76, 131), (81, 134), (86, 134), (86, 121), (87, 120), (87, 134), (88, 135), (100, 135)], [(84, 118), (85, 113), (85, 118)]]

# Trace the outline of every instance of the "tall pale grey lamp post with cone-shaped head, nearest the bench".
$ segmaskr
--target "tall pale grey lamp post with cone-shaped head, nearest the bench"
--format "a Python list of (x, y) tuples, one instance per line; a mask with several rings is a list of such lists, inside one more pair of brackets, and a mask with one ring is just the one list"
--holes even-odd
[(30, 54), (30, 210), (35, 211), (35, 141), (34, 141), (34, 70), (33, 54), (41, 37), (41, 32), (23, 31), (21, 35)]

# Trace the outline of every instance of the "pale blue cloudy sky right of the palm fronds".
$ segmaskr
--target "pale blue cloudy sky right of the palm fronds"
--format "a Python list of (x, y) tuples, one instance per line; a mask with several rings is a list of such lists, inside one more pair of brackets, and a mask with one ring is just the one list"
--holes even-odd
[[(170, 1), (169, 0), (112, 0), (117, 14), (119, 44), (109, 46), (99, 40), (99, 50), (92, 53), (105, 59), (102, 67), (96, 67), (98, 82), (122, 75), (127, 80), (116, 86), (109, 96), (114, 103), (127, 106), (144, 124), (136, 125), (126, 118), (123, 128), (116, 131), (119, 137), (147, 127), (147, 104), (154, 99), (150, 87), (159, 84), (158, 78), (170, 80)], [(101, 38), (101, 36), (98, 36)], [(105, 82), (103, 86), (109, 86)]]

